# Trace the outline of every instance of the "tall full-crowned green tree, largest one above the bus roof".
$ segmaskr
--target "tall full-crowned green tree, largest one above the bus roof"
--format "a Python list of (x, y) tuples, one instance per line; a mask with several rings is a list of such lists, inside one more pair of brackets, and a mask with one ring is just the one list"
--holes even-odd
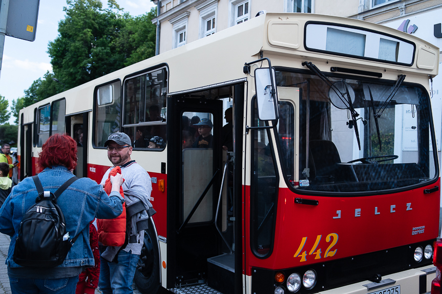
[(72, 88), (124, 66), (124, 56), (112, 46), (129, 14), (113, 1), (103, 9), (100, 0), (68, 0), (66, 18), (58, 24), (59, 36), (49, 42), (53, 72)]

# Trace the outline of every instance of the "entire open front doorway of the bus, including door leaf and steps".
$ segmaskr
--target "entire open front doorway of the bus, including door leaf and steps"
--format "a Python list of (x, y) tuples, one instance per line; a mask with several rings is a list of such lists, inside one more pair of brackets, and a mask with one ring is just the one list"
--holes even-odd
[[(218, 95), (215, 99), (193, 93), (167, 100), (167, 122), (173, 127), (167, 128), (169, 262), (163, 286), (175, 288), (176, 293), (202, 292), (208, 287), (223, 294), (242, 292), (244, 83), (219, 89), (218, 94), (223, 91), (227, 96)], [(224, 110), (232, 104), (237, 155), (222, 148)], [(194, 134), (191, 141), (198, 144), (194, 139), (199, 135), (198, 128), (193, 125), (203, 119), (213, 123), (212, 142), (208, 148), (196, 148), (188, 143), (188, 136)], [(239, 254), (235, 254), (235, 248)]]

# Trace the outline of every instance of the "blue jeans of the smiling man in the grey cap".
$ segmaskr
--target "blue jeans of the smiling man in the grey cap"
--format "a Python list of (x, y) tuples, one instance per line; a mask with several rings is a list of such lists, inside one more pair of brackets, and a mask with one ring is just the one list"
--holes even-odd
[[(101, 248), (100, 248), (101, 252)], [(135, 269), (138, 254), (131, 254), (121, 250), (118, 254), (118, 263), (108, 262), (100, 258), (100, 279), (98, 288), (103, 294), (132, 294)]]

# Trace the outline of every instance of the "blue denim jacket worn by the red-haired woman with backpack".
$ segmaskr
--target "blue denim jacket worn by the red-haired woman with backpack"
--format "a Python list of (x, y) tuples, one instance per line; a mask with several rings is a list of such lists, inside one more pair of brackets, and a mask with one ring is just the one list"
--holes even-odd
[[(63, 166), (46, 168), (38, 174), (45, 191), (54, 193), (73, 175)], [(0, 209), (0, 233), (11, 236), (6, 264), (20, 267), (13, 260), (15, 239), (24, 214), (35, 203), (37, 189), (32, 177), (14, 186), (11, 194)], [(112, 192), (109, 196), (103, 187), (90, 178), (80, 178), (57, 198), (57, 205), (65, 216), (66, 229), (70, 239), (78, 237), (65, 261), (58, 267), (94, 266), (94, 256), (89, 245), (89, 223), (94, 218), (115, 218), (123, 211), (121, 195)]]

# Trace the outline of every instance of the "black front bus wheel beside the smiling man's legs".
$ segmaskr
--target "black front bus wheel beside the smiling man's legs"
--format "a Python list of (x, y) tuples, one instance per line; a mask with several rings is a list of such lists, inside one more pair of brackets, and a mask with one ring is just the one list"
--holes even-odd
[(134, 282), (141, 293), (155, 294), (160, 288), (158, 240), (152, 225), (144, 231), (144, 244), (135, 270)]

